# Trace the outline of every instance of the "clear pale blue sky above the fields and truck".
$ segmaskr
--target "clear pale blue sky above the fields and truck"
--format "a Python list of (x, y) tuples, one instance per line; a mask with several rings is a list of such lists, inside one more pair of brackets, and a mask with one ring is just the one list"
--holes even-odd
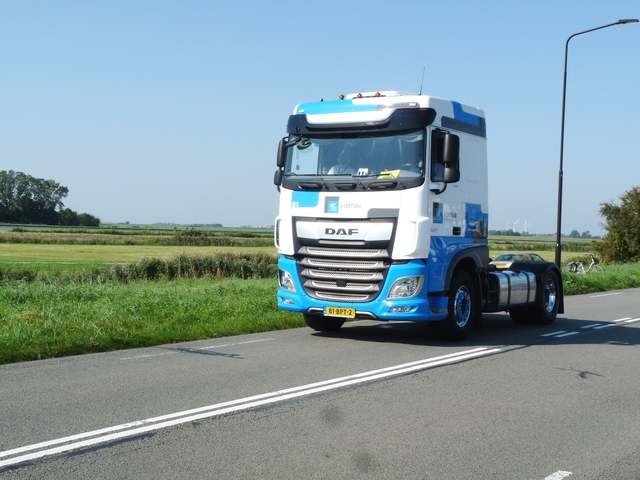
[[(564, 45), (640, 2), (0, 1), (0, 170), (103, 222), (268, 226), (300, 102), (420, 89), (485, 111), (490, 228), (554, 233)], [(640, 24), (569, 48), (563, 233), (640, 185)]]

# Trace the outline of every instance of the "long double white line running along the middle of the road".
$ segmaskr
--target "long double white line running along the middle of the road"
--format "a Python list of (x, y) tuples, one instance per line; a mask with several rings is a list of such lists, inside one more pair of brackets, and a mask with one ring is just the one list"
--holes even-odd
[[(311, 383), (311, 384), (302, 385), (299, 387), (293, 387), (293, 388), (288, 388), (284, 390), (263, 393), (260, 395), (254, 395), (251, 397), (241, 398), (237, 400), (231, 400), (228, 402), (209, 405), (206, 407), (185, 410), (183, 412), (176, 412), (168, 415), (162, 415), (159, 417), (147, 418), (145, 420), (125, 423), (122, 425), (115, 425), (115, 426), (103, 428), (100, 430), (79, 433), (77, 435), (71, 435), (68, 437), (49, 440), (46, 442), (36, 443), (33, 445), (25, 445), (23, 447), (0, 452), (0, 458), (19, 455), (25, 452), (32, 452), (33, 450), (39, 450), (39, 451), (35, 451), (25, 455), (20, 455), (17, 457), (2, 460), (0, 461), (0, 467), (15, 465), (15, 464), (26, 462), (29, 460), (34, 460), (37, 458), (42, 458), (50, 455), (55, 455), (57, 453), (68, 452), (70, 450), (89, 447), (92, 445), (110, 442), (113, 440), (118, 440), (126, 437), (141, 435), (153, 430), (159, 430), (162, 428), (167, 428), (167, 427), (179, 425), (182, 423), (189, 423), (189, 422), (193, 422), (203, 418), (215, 417), (215, 416), (223, 415), (226, 413), (246, 410), (246, 409), (258, 407), (261, 405), (267, 405), (269, 403), (276, 403), (284, 400), (290, 400), (293, 398), (298, 398), (302, 396), (312, 395), (315, 393), (334, 390), (341, 387), (347, 387), (351, 385), (357, 385), (360, 383), (370, 382), (373, 380), (380, 380), (383, 378), (403, 375), (406, 373), (417, 372), (419, 370), (426, 370), (428, 368), (460, 362), (462, 360), (469, 360), (471, 358), (477, 358), (484, 355), (491, 355), (493, 353), (497, 353), (500, 351), (501, 351), (500, 348), (492, 348), (492, 349), (489, 349), (487, 347), (474, 348), (471, 350), (451, 353), (448, 355), (441, 355), (439, 357), (434, 357), (434, 358), (429, 358), (424, 360), (418, 360), (415, 362), (396, 365), (393, 367), (386, 367), (379, 370), (372, 370), (369, 372), (358, 373), (355, 375), (348, 375), (345, 377), (334, 378), (331, 380)], [(72, 442), (72, 443), (69, 443), (69, 442)], [(54, 445), (58, 445), (58, 446), (53, 447)], [(48, 448), (48, 447), (53, 447), (53, 448)], [(40, 450), (40, 449), (44, 449), (44, 450)]]

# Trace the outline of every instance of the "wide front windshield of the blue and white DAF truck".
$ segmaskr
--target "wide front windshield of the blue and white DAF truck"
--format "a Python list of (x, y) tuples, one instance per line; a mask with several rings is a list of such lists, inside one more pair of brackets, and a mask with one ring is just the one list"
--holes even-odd
[(415, 178), (424, 172), (424, 130), (394, 135), (291, 137), (284, 169), (287, 176), (325, 180), (359, 176)]

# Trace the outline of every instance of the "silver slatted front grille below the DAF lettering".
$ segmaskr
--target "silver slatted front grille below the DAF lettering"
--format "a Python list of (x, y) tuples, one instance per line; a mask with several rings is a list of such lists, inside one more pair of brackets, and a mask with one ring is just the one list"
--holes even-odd
[(308, 295), (322, 300), (375, 299), (389, 269), (385, 249), (304, 246), (298, 251), (300, 278)]

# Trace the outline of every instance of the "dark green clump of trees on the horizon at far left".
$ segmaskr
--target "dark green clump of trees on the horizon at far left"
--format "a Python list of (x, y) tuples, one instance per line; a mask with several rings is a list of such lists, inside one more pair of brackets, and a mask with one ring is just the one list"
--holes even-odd
[(55, 180), (0, 170), (0, 222), (99, 227), (99, 218), (64, 207), (68, 194)]

